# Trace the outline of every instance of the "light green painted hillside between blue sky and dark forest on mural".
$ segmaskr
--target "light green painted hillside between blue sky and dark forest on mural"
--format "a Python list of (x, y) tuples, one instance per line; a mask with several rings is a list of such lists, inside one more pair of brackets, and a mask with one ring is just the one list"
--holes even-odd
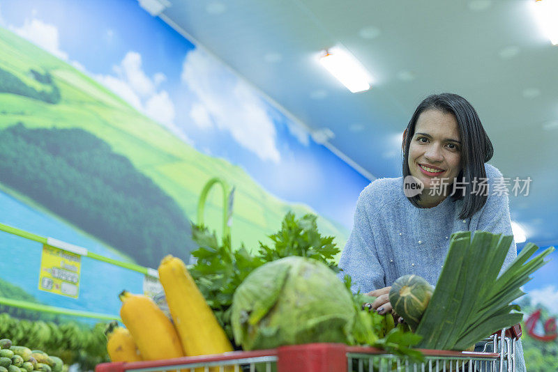
[[(199, 153), (68, 63), (1, 28), (0, 50), (3, 76), (27, 86), (24, 93), (0, 91), (0, 130), (22, 123), (29, 129), (90, 132), (130, 160), (187, 216), (196, 215), (204, 184), (213, 177), (223, 178), (236, 187), (234, 247), (244, 242), (248, 249), (256, 249), (259, 240), (280, 228), (289, 210), (296, 215), (315, 213), (306, 205), (286, 203), (266, 192), (239, 166)], [(213, 190), (205, 215), (206, 224), (218, 233), (223, 218), (221, 200), (220, 190)], [(336, 237), (340, 247), (345, 244), (347, 228), (323, 217), (318, 224), (322, 233)]]

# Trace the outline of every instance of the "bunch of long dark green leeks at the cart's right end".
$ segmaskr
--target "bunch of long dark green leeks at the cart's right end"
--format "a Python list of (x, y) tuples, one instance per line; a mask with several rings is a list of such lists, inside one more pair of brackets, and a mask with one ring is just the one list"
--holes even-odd
[(520, 286), (545, 264), (554, 247), (533, 256), (538, 247), (528, 243), (498, 277), (513, 237), (485, 231), (461, 231), (451, 242), (432, 299), (418, 324), (421, 348), (465, 350), (497, 330), (520, 323), (513, 300), (525, 293)]

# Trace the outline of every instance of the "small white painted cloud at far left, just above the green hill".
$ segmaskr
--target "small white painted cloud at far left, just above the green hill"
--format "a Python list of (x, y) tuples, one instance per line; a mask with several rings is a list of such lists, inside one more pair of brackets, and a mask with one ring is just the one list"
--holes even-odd
[(47, 24), (33, 18), (32, 20), (25, 20), (21, 27), (10, 26), (10, 29), (22, 38), (54, 54), (59, 59), (68, 61), (68, 53), (60, 49), (58, 29), (53, 24)]

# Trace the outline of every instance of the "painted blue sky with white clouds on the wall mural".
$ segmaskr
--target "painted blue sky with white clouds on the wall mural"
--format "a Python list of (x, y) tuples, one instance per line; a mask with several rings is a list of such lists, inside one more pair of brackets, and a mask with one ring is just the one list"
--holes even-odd
[(0, 25), (84, 71), (202, 153), (347, 228), (363, 176), (135, 0), (0, 3)]

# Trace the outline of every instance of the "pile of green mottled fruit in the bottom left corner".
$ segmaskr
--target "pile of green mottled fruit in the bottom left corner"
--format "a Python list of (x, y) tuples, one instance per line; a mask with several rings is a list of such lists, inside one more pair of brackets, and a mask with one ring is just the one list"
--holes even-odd
[[(0, 347), (0, 372), (63, 371), (62, 359), (41, 350), (13, 345), (10, 339), (1, 339)], [(37, 357), (41, 362), (37, 362)]]

